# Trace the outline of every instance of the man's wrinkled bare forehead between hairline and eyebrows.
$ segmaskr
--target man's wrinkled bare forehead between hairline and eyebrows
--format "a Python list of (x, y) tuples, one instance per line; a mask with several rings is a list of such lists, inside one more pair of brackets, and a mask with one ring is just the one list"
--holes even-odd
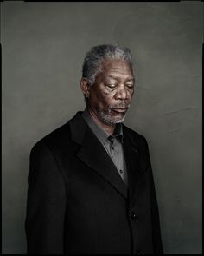
[(124, 60), (105, 60), (102, 62), (102, 75), (127, 76), (133, 78), (131, 64)]

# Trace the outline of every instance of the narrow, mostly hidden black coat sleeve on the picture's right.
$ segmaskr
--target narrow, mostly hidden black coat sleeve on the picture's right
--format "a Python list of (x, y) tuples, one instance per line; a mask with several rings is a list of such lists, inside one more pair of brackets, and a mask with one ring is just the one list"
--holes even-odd
[(147, 150), (147, 161), (150, 170), (150, 209), (151, 209), (151, 222), (152, 222), (152, 237), (155, 254), (163, 254), (163, 242), (160, 228), (160, 218), (158, 204), (156, 200), (156, 189), (154, 183), (154, 177), (152, 173), (152, 167), (150, 162), (150, 152), (148, 143), (145, 139), (146, 150)]

